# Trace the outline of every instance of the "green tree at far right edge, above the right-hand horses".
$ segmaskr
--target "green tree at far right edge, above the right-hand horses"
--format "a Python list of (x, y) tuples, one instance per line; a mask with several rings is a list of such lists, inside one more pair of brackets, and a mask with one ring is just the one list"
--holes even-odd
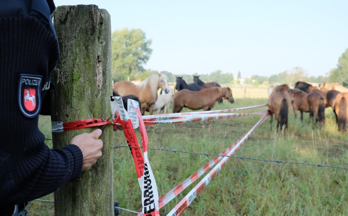
[(338, 59), (337, 68), (330, 71), (329, 81), (339, 84), (348, 84), (348, 49)]

